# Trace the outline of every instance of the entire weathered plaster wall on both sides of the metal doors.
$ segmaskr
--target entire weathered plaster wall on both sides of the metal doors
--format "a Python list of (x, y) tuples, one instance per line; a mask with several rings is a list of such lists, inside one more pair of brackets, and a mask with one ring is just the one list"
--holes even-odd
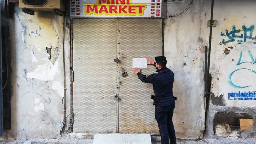
[[(175, 73), (173, 90), (178, 101), (173, 120), (177, 137), (197, 139), (202, 137), (205, 130), (204, 47), (208, 46), (209, 41), (207, 21), (210, 20), (210, 0), (195, 0), (184, 14), (169, 17), (183, 11), (189, 3), (189, 0), (185, 0), (169, 1), (167, 4), (164, 55), (167, 57), (167, 67)], [(207, 115), (207, 137), (214, 136), (213, 121), (217, 112), (240, 112), (255, 116), (254, 100), (234, 97), (238, 91), (255, 89), (256, 69), (253, 66), (256, 63), (256, 44), (253, 42), (256, 41), (252, 37), (255, 37), (256, 32), (252, 30), (252, 37), (247, 32), (246, 39), (240, 38), (241, 34), (244, 36), (243, 26), (244, 29), (250, 28), (256, 23), (255, 5), (253, 0), (215, 1), (214, 20), (218, 21), (218, 25), (213, 28), (210, 65), (213, 80)], [(228, 38), (225, 30), (230, 32), (233, 25), (241, 31)], [(70, 119), (69, 29), (65, 27), (63, 51), (63, 17), (50, 12), (36, 12), (35, 16), (31, 16), (16, 7), (10, 26), (13, 71), (11, 134), (16, 138), (59, 138), (64, 117), (64, 87), (67, 88), (66, 116), (67, 120)], [(237, 40), (242, 42), (238, 44)], [(231, 100), (234, 98), (237, 100)], [(67, 121), (65, 127), (67, 133), (69, 123)], [(231, 136), (249, 137), (248, 134), (253, 130), (255, 127), (242, 133), (232, 133)]]

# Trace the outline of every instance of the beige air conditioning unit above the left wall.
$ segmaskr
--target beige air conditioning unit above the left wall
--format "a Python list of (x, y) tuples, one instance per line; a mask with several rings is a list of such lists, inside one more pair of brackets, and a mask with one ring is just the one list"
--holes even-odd
[(19, 0), (19, 8), (32, 11), (64, 11), (62, 0)]

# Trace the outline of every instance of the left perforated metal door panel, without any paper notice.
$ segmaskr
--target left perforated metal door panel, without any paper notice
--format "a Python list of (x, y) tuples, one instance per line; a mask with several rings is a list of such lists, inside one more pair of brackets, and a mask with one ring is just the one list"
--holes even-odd
[(116, 128), (115, 19), (74, 19), (74, 133)]

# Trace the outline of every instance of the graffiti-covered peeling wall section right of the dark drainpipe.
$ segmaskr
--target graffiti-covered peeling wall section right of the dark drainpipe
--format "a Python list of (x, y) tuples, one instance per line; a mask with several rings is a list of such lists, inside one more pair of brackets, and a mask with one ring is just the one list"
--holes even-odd
[[(211, 100), (206, 137), (214, 136), (213, 119), (217, 112), (252, 115), (253, 128), (242, 132), (238, 130), (238, 134), (231, 134), (231, 137), (256, 137), (255, 7), (254, 0), (214, 1), (213, 20), (217, 20), (218, 25), (213, 28), (212, 37)], [(206, 5), (204, 9), (210, 9), (210, 6)]]

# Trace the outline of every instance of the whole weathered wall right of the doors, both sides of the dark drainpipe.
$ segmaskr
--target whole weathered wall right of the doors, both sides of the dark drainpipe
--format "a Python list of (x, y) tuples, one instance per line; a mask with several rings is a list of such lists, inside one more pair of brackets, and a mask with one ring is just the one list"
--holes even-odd
[[(169, 2), (167, 16), (181, 12), (189, 2)], [(164, 52), (175, 73), (174, 94), (179, 97), (174, 113), (178, 138), (196, 138), (204, 130), (203, 47), (209, 43), (210, 3), (193, 1), (184, 14), (166, 19)], [(255, 137), (255, 126), (243, 131), (239, 127), (240, 118), (252, 118), (255, 125), (255, 5), (253, 0), (215, 0), (213, 17), (218, 25), (213, 28), (211, 45), (212, 82), (205, 137), (219, 136), (214, 132), (218, 123), (238, 125), (229, 133), (224, 129), (224, 137)], [(253, 94), (246, 97), (250, 92)]]

